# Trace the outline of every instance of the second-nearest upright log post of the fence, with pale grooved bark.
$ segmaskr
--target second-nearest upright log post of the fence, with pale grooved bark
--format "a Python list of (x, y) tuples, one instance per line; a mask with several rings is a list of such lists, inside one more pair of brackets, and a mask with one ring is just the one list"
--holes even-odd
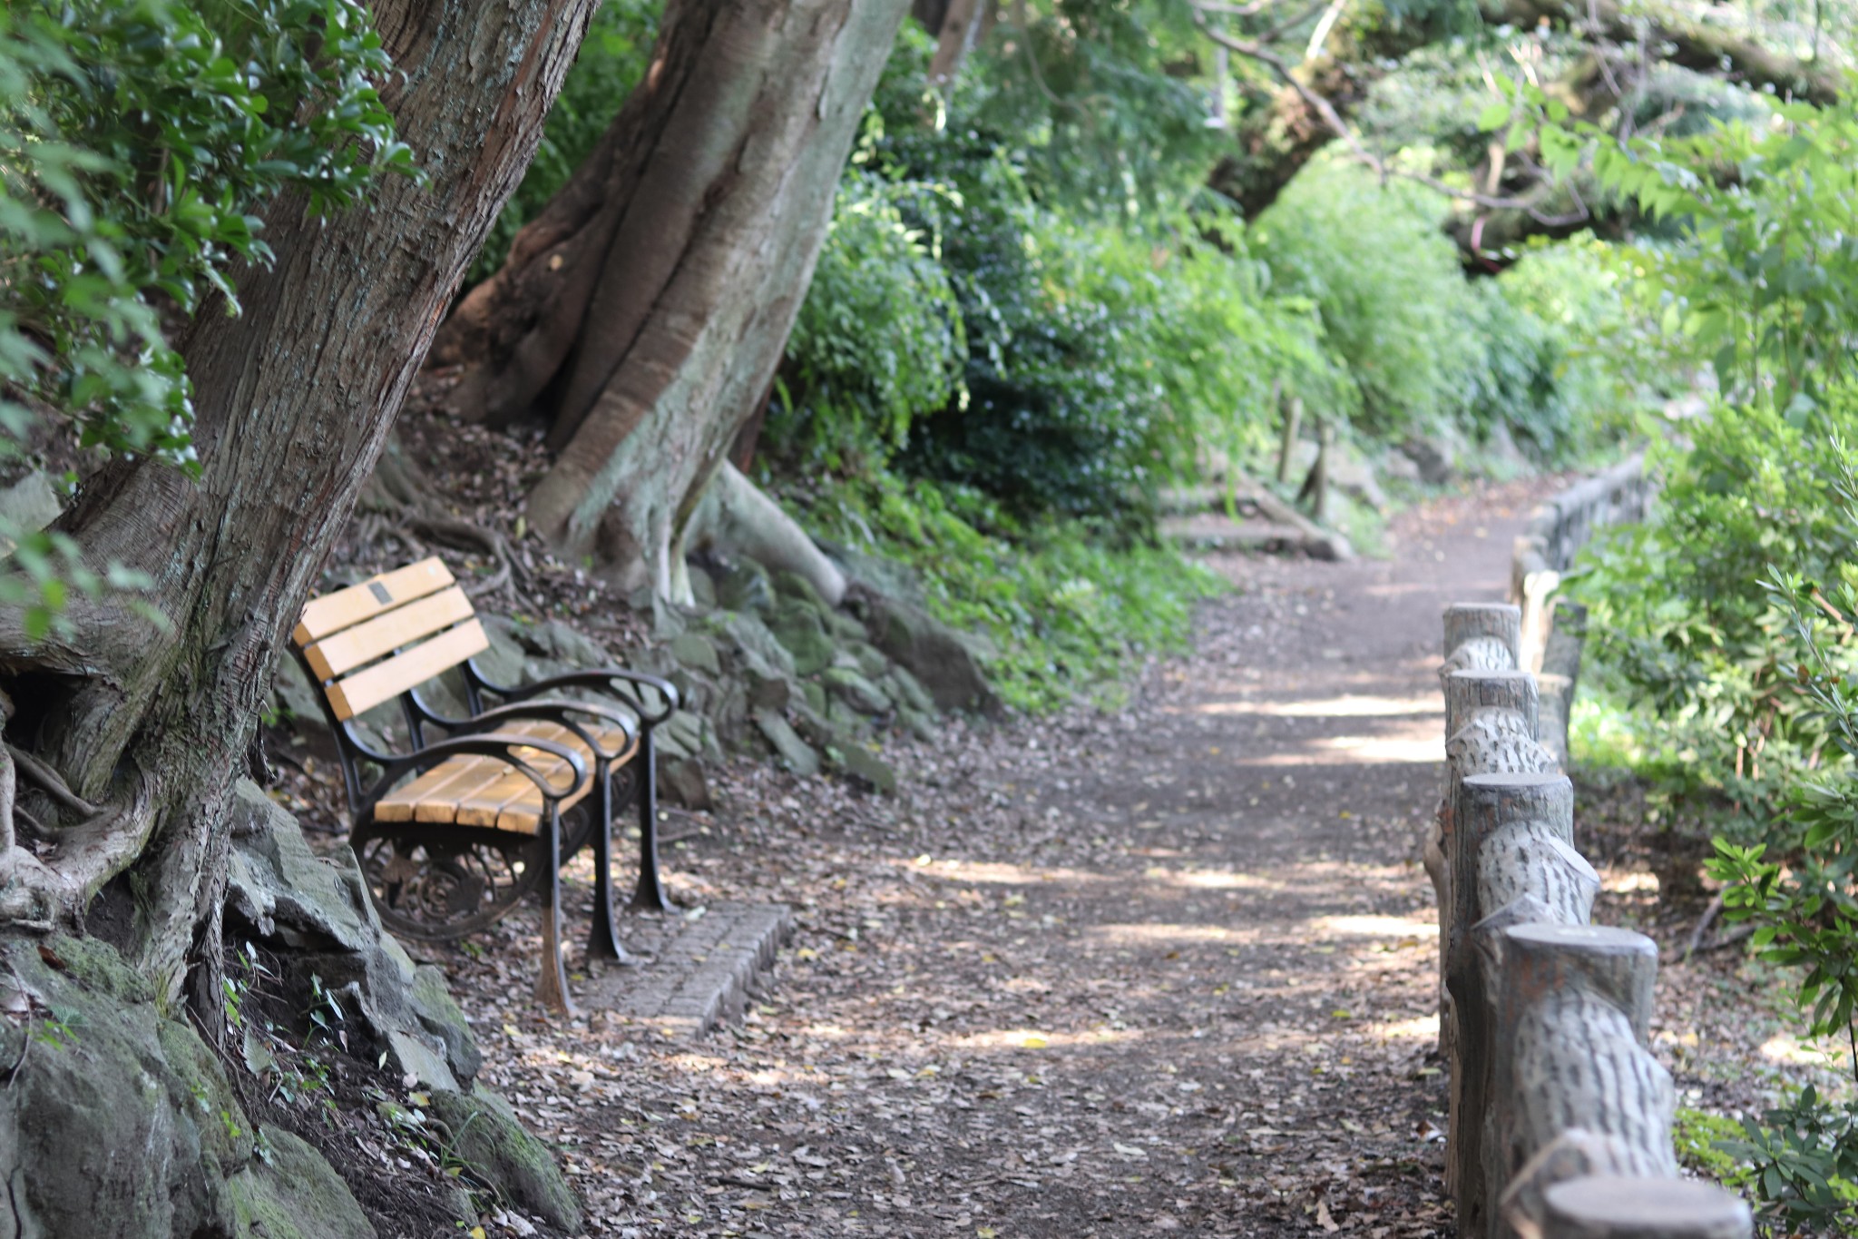
[(1460, 1213), (1459, 1233), (1503, 1239), (1540, 1233), (1546, 1191), (1564, 1178), (1596, 1168), (1676, 1178), (1676, 1094), (1644, 1048), (1657, 975), (1650, 938), (1492, 919), (1477, 934), (1494, 998), (1486, 1196), (1475, 1217)]

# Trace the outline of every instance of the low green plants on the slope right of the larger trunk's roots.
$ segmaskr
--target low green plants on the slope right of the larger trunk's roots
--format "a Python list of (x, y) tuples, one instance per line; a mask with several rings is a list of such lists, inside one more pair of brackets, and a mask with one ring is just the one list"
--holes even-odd
[(1193, 604), (1219, 589), (1167, 548), (1078, 520), (1014, 522), (966, 487), (894, 474), (790, 492), (812, 533), (909, 565), (931, 613), (992, 639), (1007, 704), (1052, 710), (1176, 650)]

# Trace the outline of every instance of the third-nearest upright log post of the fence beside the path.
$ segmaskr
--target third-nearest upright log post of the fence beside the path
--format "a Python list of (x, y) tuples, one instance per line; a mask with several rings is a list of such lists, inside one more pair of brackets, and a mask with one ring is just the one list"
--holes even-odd
[(1477, 934), (1496, 918), (1585, 925), (1600, 875), (1574, 849), (1574, 784), (1564, 775), (1466, 775), (1455, 804), (1460, 830), (1453, 851), (1451, 933), (1444, 942), (1444, 979), (1455, 1022), (1446, 1155), (1460, 1232), (1475, 1235), (1483, 1233), (1492, 1196), (1509, 1181), (1494, 1155), (1494, 1012)]

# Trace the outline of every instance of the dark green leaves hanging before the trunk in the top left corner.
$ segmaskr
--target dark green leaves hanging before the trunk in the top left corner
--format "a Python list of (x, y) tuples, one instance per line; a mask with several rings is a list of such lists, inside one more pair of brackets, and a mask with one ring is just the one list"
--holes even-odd
[[(297, 191), (351, 206), (412, 152), (375, 82), (392, 65), (355, 0), (33, 0), (0, 13), (0, 457), (33, 411), (80, 442), (197, 468), (193, 411), (162, 314), (269, 264), (256, 212)], [(69, 539), (11, 528), (0, 602), (30, 635), (71, 591), (139, 581)]]

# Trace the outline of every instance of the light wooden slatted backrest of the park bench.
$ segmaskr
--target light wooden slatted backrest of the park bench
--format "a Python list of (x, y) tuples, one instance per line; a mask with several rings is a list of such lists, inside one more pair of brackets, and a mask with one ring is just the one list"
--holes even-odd
[(342, 723), (491, 648), (437, 557), (312, 598), (292, 641)]

